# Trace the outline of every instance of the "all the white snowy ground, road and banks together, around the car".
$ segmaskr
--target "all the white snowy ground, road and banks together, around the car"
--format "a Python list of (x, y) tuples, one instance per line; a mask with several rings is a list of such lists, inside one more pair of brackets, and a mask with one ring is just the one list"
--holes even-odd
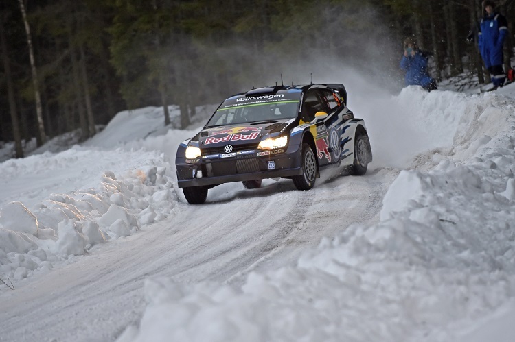
[(515, 88), (347, 88), (374, 162), (310, 191), (189, 206), (159, 108), (1, 163), (0, 341), (513, 341)]

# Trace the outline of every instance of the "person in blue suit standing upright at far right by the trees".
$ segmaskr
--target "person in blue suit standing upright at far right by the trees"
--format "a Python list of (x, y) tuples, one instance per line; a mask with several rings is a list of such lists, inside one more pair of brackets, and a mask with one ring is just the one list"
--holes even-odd
[(503, 45), (508, 34), (507, 21), (504, 16), (495, 12), (495, 3), (483, 1), (484, 16), (479, 23), (479, 52), (485, 66), (492, 75), (494, 88), (503, 86), (505, 73), (503, 69)]

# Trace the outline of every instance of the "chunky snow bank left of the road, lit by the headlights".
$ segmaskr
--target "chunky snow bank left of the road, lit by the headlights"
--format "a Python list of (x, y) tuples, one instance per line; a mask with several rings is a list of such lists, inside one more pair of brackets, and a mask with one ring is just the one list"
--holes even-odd
[[(72, 262), (170, 215), (178, 201), (170, 160), (192, 132), (152, 135), (162, 118), (162, 109), (122, 112), (100, 134), (109, 139), (97, 138), (100, 147), (92, 139), (89, 147), (1, 163), (0, 279), (21, 281)], [(126, 134), (133, 136), (124, 144)]]

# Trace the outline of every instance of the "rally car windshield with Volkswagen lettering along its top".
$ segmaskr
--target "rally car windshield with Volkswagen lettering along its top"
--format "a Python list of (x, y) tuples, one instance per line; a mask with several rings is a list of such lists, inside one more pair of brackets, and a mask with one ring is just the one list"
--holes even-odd
[(299, 112), (301, 92), (254, 97), (231, 97), (213, 114), (207, 127), (293, 119)]

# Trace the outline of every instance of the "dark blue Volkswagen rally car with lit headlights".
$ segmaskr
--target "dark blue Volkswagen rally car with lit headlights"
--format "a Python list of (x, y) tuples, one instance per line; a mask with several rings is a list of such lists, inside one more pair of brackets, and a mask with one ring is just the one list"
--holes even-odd
[(309, 190), (332, 164), (363, 175), (372, 152), (363, 119), (347, 108), (343, 84), (268, 86), (223, 101), (176, 154), (177, 183), (190, 204), (228, 182), (259, 188), (289, 178)]

